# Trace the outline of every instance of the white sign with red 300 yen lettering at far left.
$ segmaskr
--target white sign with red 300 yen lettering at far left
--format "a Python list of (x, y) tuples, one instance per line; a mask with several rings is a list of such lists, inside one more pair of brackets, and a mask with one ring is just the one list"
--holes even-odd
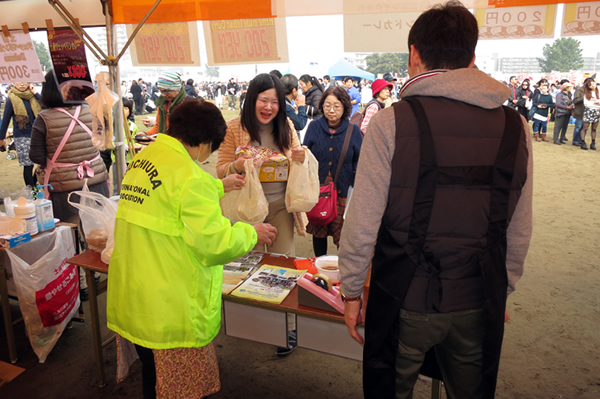
[(43, 82), (44, 74), (29, 33), (0, 32), (0, 83)]

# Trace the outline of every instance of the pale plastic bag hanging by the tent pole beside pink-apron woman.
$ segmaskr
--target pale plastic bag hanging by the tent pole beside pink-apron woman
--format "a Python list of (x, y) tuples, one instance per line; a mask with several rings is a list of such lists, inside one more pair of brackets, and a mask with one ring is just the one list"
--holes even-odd
[(110, 91), (106, 84), (108, 83), (108, 73), (100, 72), (96, 75), (98, 90), (91, 96), (86, 97), (85, 101), (90, 105), (92, 114), (92, 143), (100, 151), (115, 148), (113, 144), (113, 114), (112, 107), (119, 96)]

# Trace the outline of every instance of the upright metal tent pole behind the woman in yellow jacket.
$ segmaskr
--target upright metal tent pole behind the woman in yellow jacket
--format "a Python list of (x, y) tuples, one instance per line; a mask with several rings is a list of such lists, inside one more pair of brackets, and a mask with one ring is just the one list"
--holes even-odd
[[(123, 120), (123, 93), (121, 93), (121, 82), (119, 74), (119, 64), (115, 59), (117, 53), (117, 36), (115, 35), (115, 24), (112, 19), (112, 10), (110, 10), (109, 3), (102, 0), (102, 7), (104, 8), (104, 15), (106, 16), (106, 42), (108, 46), (108, 74), (110, 79), (110, 85), (112, 90), (119, 95), (119, 101), (113, 107), (113, 116), (115, 124), (115, 169), (117, 171), (116, 177), (113, 181), (113, 195), (117, 195), (121, 192), (121, 180), (125, 175), (125, 168), (127, 161), (125, 160), (125, 134), (124, 126), (126, 121)], [(127, 124), (128, 126), (129, 124)]]

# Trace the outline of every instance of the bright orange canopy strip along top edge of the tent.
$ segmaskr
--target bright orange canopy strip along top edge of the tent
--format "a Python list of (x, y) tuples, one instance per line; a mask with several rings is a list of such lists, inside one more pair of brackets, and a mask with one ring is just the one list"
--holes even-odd
[[(112, 0), (116, 24), (137, 24), (155, 0)], [(162, 0), (146, 22), (273, 17), (271, 0)]]

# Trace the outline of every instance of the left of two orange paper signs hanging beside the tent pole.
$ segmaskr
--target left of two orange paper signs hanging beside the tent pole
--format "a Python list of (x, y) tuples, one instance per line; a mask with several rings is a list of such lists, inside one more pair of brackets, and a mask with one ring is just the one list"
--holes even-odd
[[(131, 36), (135, 25), (127, 25)], [(144, 24), (131, 43), (133, 66), (200, 66), (196, 22)]]

